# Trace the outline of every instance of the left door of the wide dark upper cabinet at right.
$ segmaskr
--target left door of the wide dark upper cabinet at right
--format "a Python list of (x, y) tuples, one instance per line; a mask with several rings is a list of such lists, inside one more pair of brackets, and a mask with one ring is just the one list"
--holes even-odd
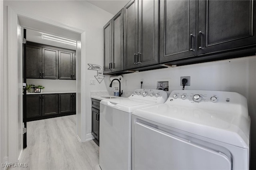
[(196, 55), (195, 0), (160, 0), (159, 41), (160, 62)]

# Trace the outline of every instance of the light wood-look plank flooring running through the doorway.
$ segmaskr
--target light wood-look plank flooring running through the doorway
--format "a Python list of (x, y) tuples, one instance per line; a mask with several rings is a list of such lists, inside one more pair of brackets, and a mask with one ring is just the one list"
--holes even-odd
[(19, 163), (28, 167), (8, 170), (100, 170), (99, 147), (76, 137), (76, 115), (28, 122), (27, 144)]

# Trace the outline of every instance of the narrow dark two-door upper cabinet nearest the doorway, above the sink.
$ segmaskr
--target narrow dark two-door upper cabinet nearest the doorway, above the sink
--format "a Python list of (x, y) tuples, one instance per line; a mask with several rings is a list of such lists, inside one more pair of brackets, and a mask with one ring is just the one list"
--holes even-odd
[(103, 27), (103, 69), (104, 73), (123, 70), (124, 9), (120, 10)]

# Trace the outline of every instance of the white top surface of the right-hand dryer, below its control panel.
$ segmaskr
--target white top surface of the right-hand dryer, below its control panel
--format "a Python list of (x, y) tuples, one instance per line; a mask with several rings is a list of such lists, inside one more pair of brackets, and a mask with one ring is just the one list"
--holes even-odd
[(250, 119), (241, 114), (168, 104), (137, 109), (132, 114), (192, 134), (249, 148)]

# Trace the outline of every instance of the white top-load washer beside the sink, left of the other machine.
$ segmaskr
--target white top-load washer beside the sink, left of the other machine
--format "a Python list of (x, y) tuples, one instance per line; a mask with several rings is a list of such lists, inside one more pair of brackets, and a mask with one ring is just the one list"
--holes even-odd
[(164, 103), (162, 90), (136, 89), (128, 98), (100, 102), (100, 168), (130, 170), (132, 168), (132, 112), (135, 109)]

